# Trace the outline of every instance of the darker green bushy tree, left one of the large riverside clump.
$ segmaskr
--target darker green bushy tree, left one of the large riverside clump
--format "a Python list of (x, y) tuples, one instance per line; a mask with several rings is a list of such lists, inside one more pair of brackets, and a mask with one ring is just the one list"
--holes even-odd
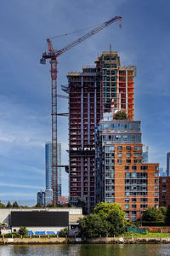
[(84, 218), (79, 218), (78, 222), (81, 236), (106, 236), (109, 233), (109, 223), (99, 214), (91, 213)]

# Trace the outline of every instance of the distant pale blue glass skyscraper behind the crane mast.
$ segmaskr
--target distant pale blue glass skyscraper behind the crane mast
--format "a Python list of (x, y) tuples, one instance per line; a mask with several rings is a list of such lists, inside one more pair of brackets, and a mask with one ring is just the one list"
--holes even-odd
[[(58, 143), (57, 146), (57, 157), (58, 157), (58, 165), (61, 165), (61, 143)], [(50, 189), (52, 189), (52, 144), (46, 143), (45, 145), (45, 166), (46, 166), (46, 190), (48, 196), (48, 203), (49, 197), (51, 195)], [(61, 168), (58, 167), (58, 198), (61, 196)]]

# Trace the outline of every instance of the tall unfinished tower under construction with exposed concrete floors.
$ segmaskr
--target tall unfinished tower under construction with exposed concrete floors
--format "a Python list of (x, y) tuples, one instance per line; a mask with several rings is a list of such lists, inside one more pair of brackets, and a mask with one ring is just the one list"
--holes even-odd
[(105, 51), (94, 67), (68, 73), (70, 202), (84, 212), (94, 209), (95, 128), (103, 113), (115, 110), (133, 119), (135, 67), (121, 67), (116, 51)]

